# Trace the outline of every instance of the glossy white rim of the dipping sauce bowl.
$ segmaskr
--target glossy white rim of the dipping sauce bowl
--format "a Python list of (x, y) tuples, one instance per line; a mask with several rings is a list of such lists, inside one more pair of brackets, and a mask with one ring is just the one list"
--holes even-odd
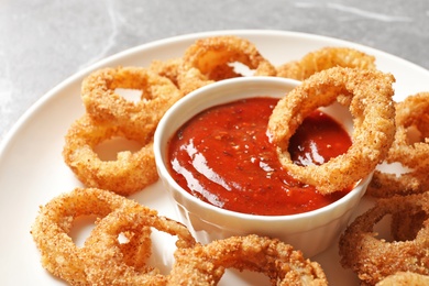
[[(229, 87), (235, 87), (237, 85), (241, 85), (241, 88), (243, 90), (245, 90), (245, 88), (250, 88), (254, 84), (265, 84), (265, 85), (276, 84), (278, 86), (284, 86), (285, 88), (290, 88), (290, 90), (292, 90), (293, 88), (298, 86), (300, 84), (300, 81), (295, 80), (295, 79), (290, 79), (290, 78), (270, 77), (270, 76), (230, 78), (230, 79), (224, 79), (224, 80), (216, 81), (213, 84), (209, 84), (207, 86), (204, 86), (197, 90), (189, 92), (188, 95), (186, 95), (185, 97), (179, 99), (176, 103), (174, 103), (166, 111), (164, 117), (161, 119), (161, 121), (155, 130), (155, 134), (154, 134), (154, 155), (155, 155), (156, 167), (158, 169), (158, 174), (160, 174), (160, 177), (162, 178), (162, 180), (166, 180), (167, 184), (169, 184), (170, 187), (174, 188), (176, 191), (178, 191), (184, 198), (189, 200), (191, 204), (197, 205), (201, 209), (205, 209), (205, 210), (210, 211), (210, 212), (216, 212), (217, 215), (224, 216), (224, 217), (233, 217), (233, 218), (240, 218), (243, 220), (265, 221), (265, 222), (266, 221), (292, 221), (292, 220), (295, 221), (295, 220), (308, 219), (308, 218), (312, 218), (312, 217), (319, 217), (322, 213), (327, 213), (327, 212), (331, 212), (331, 211), (333, 212), (338, 207), (343, 205), (343, 202), (346, 202), (349, 200), (353, 200), (353, 198), (355, 198), (356, 196), (362, 197), (365, 193), (364, 190), (362, 190), (362, 188), (364, 188), (364, 186), (367, 185), (369, 182), (371, 180), (372, 173), (367, 177), (358, 182), (355, 184), (355, 187), (351, 191), (349, 191), (345, 196), (343, 196), (339, 200), (336, 200), (334, 202), (332, 202), (328, 206), (324, 206), (322, 208), (315, 209), (311, 211), (301, 212), (301, 213), (295, 213), (295, 215), (279, 215), (279, 216), (251, 215), (251, 213), (244, 213), (244, 212), (238, 212), (238, 211), (233, 211), (233, 210), (222, 209), (222, 208), (212, 206), (206, 201), (202, 201), (202, 200), (196, 198), (195, 196), (193, 196), (191, 194), (189, 194), (188, 191), (186, 191), (184, 188), (182, 188), (173, 179), (173, 177), (169, 174), (168, 168), (166, 166), (166, 162), (164, 161), (164, 156), (162, 155), (163, 152), (165, 153), (165, 151), (163, 151), (163, 148), (166, 148), (168, 139), (165, 139), (165, 144), (163, 144), (163, 145), (161, 144), (163, 139), (166, 136), (163, 131), (170, 123), (170, 118), (174, 114), (183, 111), (183, 109), (185, 109), (185, 108), (188, 109), (187, 107), (188, 107), (189, 102), (194, 102), (196, 99), (199, 99), (202, 97), (209, 98), (209, 97), (207, 97), (207, 94), (215, 94), (218, 90), (223, 90), (223, 89), (229, 88)], [(245, 97), (245, 96), (244, 97), (237, 97), (237, 98), (234, 97), (231, 100), (221, 100), (220, 103), (213, 103), (210, 106), (218, 106), (218, 105), (222, 105), (222, 103), (233, 102), (233, 101), (239, 100), (241, 98), (249, 98), (249, 96), (248, 97)], [(186, 119), (183, 121), (182, 124), (184, 124), (185, 122), (190, 120), (194, 116), (196, 116), (197, 113), (199, 113), (206, 109), (207, 108), (200, 108), (200, 109), (197, 108), (197, 111), (193, 111), (191, 114), (186, 114), (185, 116)], [(168, 134), (168, 136), (172, 136), (172, 135), (173, 135), (173, 133)], [(350, 208), (352, 208), (352, 206), (348, 206), (348, 208), (344, 209), (341, 213), (348, 211)], [(339, 216), (337, 216), (337, 217), (339, 217)], [(331, 219), (333, 220), (337, 217), (332, 217)]]

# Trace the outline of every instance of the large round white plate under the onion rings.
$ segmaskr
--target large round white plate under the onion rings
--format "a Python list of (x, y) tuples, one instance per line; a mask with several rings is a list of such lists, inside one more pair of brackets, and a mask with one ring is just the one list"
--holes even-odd
[[(350, 42), (317, 35), (280, 31), (218, 31), (167, 38), (111, 56), (68, 78), (45, 95), (15, 124), (0, 146), (0, 282), (2, 285), (62, 285), (40, 263), (40, 253), (30, 234), (38, 206), (55, 196), (72, 190), (80, 183), (64, 164), (62, 148), (67, 129), (81, 114), (84, 107), (79, 89), (81, 79), (91, 70), (103, 66), (147, 66), (153, 59), (179, 57), (196, 38), (218, 34), (238, 34), (256, 44), (274, 64), (298, 59), (322, 46), (349, 46), (376, 56), (377, 67), (396, 77), (396, 100), (429, 90), (429, 72), (386, 53)], [(155, 208), (161, 215), (176, 218), (173, 204), (160, 183), (133, 196), (141, 204)], [(362, 202), (361, 211), (366, 208)], [(82, 229), (77, 240), (89, 230)], [(78, 241), (78, 243), (81, 243)], [(154, 266), (167, 273), (174, 246), (167, 235), (154, 234), (155, 250), (151, 257)], [(355, 275), (339, 264), (338, 249), (312, 257), (324, 268), (330, 285), (358, 284)], [(250, 285), (264, 280), (262, 275), (232, 271), (220, 285)], [(266, 279), (265, 279), (266, 280)]]

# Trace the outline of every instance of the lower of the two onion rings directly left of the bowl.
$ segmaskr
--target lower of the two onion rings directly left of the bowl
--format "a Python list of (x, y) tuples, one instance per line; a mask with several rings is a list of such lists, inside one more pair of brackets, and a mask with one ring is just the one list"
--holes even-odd
[[(96, 146), (114, 138), (133, 140), (142, 147), (134, 153), (120, 152), (116, 161), (101, 160), (95, 151)], [(87, 187), (108, 189), (128, 196), (158, 178), (153, 140), (145, 132), (136, 133), (128, 125), (97, 124), (85, 114), (72, 124), (65, 141), (64, 161)]]

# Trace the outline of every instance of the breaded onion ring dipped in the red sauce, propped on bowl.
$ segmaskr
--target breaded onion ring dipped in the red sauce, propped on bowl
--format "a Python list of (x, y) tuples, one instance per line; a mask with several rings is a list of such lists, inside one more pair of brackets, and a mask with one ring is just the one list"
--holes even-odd
[[(278, 101), (268, 122), (282, 165), (296, 179), (331, 194), (353, 186), (383, 162), (395, 135), (394, 77), (377, 70), (333, 67), (315, 74)], [(299, 166), (288, 153), (289, 139), (315, 109), (334, 101), (353, 117), (352, 145), (321, 165)]]

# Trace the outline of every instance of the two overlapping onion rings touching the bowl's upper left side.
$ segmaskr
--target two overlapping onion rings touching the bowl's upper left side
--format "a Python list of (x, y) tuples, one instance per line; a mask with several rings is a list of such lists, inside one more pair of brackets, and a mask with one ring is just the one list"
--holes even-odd
[[(118, 88), (142, 91), (141, 100), (125, 99), (117, 94)], [(67, 132), (65, 163), (85, 186), (123, 196), (153, 184), (158, 178), (153, 134), (165, 111), (182, 96), (170, 79), (146, 68), (102, 68), (91, 73), (81, 86), (87, 112)], [(101, 160), (95, 148), (116, 138), (135, 141), (142, 147), (135, 153), (120, 152), (116, 161)]]

